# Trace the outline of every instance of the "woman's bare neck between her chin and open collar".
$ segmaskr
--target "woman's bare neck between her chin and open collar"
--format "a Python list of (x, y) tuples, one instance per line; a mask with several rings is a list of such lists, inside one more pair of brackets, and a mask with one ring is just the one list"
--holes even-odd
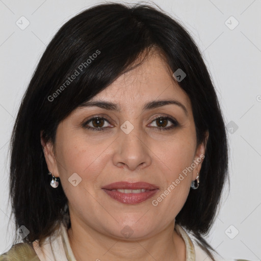
[(169, 224), (150, 238), (125, 240), (100, 233), (80, 220), (71, 218), (68, 237), (77, 261), (185, 261), (185, 242), (174, 230), (174, 225), (174, 222)]

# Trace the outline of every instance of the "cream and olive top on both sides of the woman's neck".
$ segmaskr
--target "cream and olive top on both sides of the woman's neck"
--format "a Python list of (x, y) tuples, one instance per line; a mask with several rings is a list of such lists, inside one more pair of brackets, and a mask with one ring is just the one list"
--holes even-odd
[[(211, 261), (212, 259), (192, 240), (187, 232), (175, 224), (175, 230), (182, 237), (186, 244), (186, 261)], [(215, 260), (224, 260), (221, 256), (213, 254)], [(0, 261), (76, 261), (67, 233), (66, 223), (61, 226), (55, 233), (46, 238), (42, 247), (39, 247), (38, 240), (33, 242), (33, 247), (29, 243), (19, 243), (14, 245), (8, 252), (0, 256)], [(99, 260), (97, 258), (96, 260)], [(237, 260), (237, 259), (231, 259)], [(239, 259), (238, 259), (239, 260)], [(226, 260), (227, 261), (227, 260)]]

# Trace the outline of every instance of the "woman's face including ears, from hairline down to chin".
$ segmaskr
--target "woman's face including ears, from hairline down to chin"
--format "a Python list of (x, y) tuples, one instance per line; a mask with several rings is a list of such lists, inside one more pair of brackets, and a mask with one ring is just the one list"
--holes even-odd
[[(114, 106), (77, 108), (59, 124), (55, 148), (51, 143), (44, 148), (48, 169), (60, 177), (68, 198), (71, 220), (116, 238), (151, 237), (173, 224), (200, 172), (204, 146), (196, 147), (190, 99), (155, 53), (89, 101)], [(156, 189), (105, 190), (119, 181), (147, 182)]]

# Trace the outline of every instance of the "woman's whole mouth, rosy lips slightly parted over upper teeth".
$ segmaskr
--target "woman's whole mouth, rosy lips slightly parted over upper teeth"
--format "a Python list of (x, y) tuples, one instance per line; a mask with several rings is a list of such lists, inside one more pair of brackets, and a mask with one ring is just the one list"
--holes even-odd
[(124, 204), (138, 204), (151, 198), (159, 188), (147, 182), (114, 182), (102, 188), (112, 199)]

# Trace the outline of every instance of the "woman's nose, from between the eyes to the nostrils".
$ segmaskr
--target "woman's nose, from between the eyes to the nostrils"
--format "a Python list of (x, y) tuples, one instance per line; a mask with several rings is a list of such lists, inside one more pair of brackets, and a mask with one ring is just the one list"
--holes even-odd
[(135, 127), (126, 134), (120, 130), (115, 141), (113, 164), (125, 170), (136, 170), (151, 164), (151, 150), (142, 131)]

